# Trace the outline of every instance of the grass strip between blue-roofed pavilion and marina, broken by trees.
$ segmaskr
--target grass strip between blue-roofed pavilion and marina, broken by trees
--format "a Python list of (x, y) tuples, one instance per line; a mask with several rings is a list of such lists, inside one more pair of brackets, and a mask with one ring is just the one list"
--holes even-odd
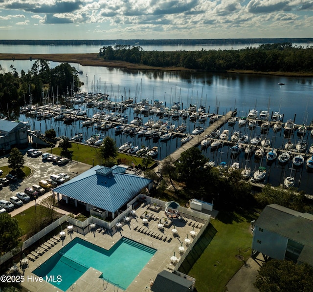
[[(73, 151), (72, 159), (75, 161), (80, 161), (83, 163), (87, 163), (89, 165), (101, 165), (101, 160), (99, 157), (99, 148), (93, 147), (89, 145), (83, 145), (79, 143), (72, 143), (72, 147), (70, 148), (71, 151)], [(60, 155), (61, 149), (56, 147), (52, 148), (52, 153), (56, 155)], [(116, 163), (117, 159), (125, 159), (126, 163), (128, 165), (132, 165), (132, 162), (134, 162), (134, 165), (141, 164), (142, 165), (142, 158), (137, 156), (132, 156), (126, 153), (118, 153), (116, 159), (114, 162)]]

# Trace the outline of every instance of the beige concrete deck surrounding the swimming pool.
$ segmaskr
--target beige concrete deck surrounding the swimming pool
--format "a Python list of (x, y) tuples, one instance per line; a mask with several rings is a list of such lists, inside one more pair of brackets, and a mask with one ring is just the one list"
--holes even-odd
[[(148, 221), (147, 225), (144, 225), (140, 218), (140, 215), (145, 211), (149, 211), (154, 215), (153, 218)], [(104, 230), (96, 226), (95, 229), (90, 229), (85, 235), (76, 232), (75, 226), (70, 233), (68, 233), (66, 229), (64, 230), (66, 232), (66, 237), (63, 242), (59, 241), (45, 251), (45, 253), (39, 255), (35, 260), (29, 259), (28, 268), (24, 271), (25, 281), (22, 283), (22, 286), (31, 292), (61, 292), (61, 290), (58, 289), (57, 282), (55, 282), (55, 286), (45, 281), (36, 282), (34, 278), (38, 277), (34, 275), (32, 271), (34, 271), (40, 264), (44, 263), (53, 254), (61, 250), (63, 245), (69, 243), (76, 236), (107, 250), (112, 248), (121, 237), (125, 236), (157, 250), (126, 290), (127, 292), (150, 291), (150, 280), (153, 281), (156, 278), (156, 275), (164, 269), (168, 269), (169, 271), (173, 270), (174, 266), (170, 262), (171, 256), (173, 256), (175, 252), (176, 256), (180, 258), (179, 247), (181, 246), (181, 242), (186, 250), (187, 246), (185, 245), (184, 239), (187, 238), (188, 235), (188, 238), (193, 241), (194, 239), (191, 236), (190, 231), (194, 229), (194, 231), (198, 233), (205, 223), (202, 219), (195, 217), (190, 218), (190, 216), (184, 214), (180, 215), (181, 217), (173, 220), (171, 226), (168, 228), (164, 227), (164, 229), (160, 230), (157, 225), (159, 220), (162, 217), (165, 217), (164, 211), (160, 210), (159, 212), (154, 212), (148, 210), (147, 206), (143, 206), (136, 209), (136, 216), (132, 217), (129, 223), (121, 222), (122, 226), (120, 229), (114, 227), (110, 230)], [(175, 229), (177, 229), (177, 234), (175, 235), (172, 232), (174, 225)], [(130, 269), (132, 269), (131, 266)], [(118, 286), (114, 286), (104, 279), (99, 278), (101, 274), (100, 271), (89, 268), (89, 270), (85, 272), (67, 291), (124, 291), (121, 288), (118, 288)], [(31, 278), (31, 276), (33, 276), (33, 278)], [(105, 278), (105, 275), (103, 275), (103, 277)]]

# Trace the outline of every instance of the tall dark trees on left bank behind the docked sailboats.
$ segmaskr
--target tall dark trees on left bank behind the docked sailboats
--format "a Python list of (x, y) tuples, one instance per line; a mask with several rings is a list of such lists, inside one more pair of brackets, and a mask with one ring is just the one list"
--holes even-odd
[(3, 106), (10, 101), (11, 104), (23, 104), (24, 99), (29, 103), (30, 94), (33, 103), (39, 103), (44, 98), (66, 96), (73, 94), (81, 85), (78, 72), (68, 63), (62, 63), (51, 69), (49, 62), (37, 60), (28, 72), (24, 70), (19, 74), (12, 64), (10, 72), (0, 65), (0, 104)]

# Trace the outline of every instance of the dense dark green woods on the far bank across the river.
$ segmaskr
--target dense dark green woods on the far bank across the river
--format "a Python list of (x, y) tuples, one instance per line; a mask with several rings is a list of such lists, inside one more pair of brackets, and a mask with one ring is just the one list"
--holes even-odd
[(99, 58), (155, 67), (183, 67), (207, 72), (249, 70), (261, 72), (313, 72), (313, 46), (291, 42), (261, 44), (240, 50), (144, 51), (140, 46), (103, 46)]

